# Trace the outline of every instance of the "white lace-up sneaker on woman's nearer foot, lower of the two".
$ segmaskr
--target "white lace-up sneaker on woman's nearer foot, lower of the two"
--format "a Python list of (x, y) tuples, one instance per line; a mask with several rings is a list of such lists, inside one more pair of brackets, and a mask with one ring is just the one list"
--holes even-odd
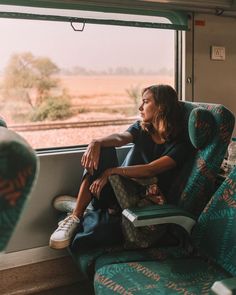
[(70, 245), (71, 238), (80, 219), (75, 215), (69, 215), (58, 223), (58, 228), (50, 237), (49, 246), (53, 249), (64, 249)]

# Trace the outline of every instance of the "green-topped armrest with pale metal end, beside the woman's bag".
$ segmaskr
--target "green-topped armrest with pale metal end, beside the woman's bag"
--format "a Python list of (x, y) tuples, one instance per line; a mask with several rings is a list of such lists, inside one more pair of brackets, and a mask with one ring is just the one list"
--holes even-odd
[(122, 214), (135, 227), (174, 223), (183, 227), (188, 233), (196, 223), (195, 217), (187, 211), (174, 205), (151, 205), (143, 208), (124, 209)]

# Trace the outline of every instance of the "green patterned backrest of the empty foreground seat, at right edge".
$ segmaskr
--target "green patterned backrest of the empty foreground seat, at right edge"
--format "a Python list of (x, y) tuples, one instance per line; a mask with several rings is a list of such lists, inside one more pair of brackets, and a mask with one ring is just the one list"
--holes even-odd
[(201, 254), (236, 276), (236, 168), (204, 208), (192, 237)]

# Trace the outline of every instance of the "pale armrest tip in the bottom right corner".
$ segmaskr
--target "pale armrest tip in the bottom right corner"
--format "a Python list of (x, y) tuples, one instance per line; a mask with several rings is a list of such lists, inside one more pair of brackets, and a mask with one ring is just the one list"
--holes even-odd
[(236, 294), (236, 277), (216, 281), (211, 287), (211, 294), (234, 295)]

